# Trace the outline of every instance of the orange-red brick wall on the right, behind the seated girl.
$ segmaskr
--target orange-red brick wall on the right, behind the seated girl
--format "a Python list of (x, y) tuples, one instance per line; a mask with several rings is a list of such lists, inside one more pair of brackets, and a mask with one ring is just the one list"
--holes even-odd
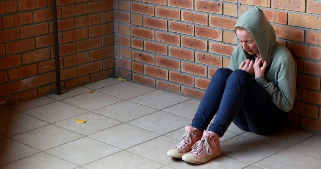
[(321, 1), (114, 0), (117, 76), (201, 98), (236, 46), (237, 17), (264, 10), (298, 63), (288, 124), (321, 133)]

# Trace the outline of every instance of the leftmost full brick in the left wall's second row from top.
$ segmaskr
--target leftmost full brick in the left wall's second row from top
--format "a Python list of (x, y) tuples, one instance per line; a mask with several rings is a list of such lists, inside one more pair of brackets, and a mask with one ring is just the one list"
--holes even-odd
[(29, 24), (32, 23), (32, 12), (4, 16), (2, 21), (4, 28)]

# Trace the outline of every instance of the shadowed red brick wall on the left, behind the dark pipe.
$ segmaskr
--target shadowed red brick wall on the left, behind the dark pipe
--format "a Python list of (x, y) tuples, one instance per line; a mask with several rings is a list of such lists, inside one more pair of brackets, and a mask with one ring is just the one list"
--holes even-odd
[[(112, 0), (56, 0), (61, 88), (114, 75)], [(56, 90), (51, 0), (0, 2), (0, 108)]]

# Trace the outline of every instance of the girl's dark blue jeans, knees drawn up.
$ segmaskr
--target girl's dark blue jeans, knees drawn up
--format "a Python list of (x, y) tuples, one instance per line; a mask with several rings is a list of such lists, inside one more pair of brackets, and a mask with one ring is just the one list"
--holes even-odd
[(288, 114), (279, 109), (262, 85), (249, 73), (237, 69), (219, 68), (212, 77), (192, 120), (192, 126), (222, 137), (233, 121), (245, 131), (258, 134), (276, 132)]

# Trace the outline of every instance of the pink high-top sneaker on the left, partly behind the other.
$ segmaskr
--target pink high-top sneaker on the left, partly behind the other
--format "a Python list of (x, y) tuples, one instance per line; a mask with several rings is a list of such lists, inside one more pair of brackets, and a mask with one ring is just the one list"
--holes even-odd
[(169, 151), (167, 156), (181, 158), (184, 154), (192, 150), (193, 144), (201, 140), (203, 132), (201, 130), (193, 130), (192, 126), (185, 126), (186, 133), (182, 136), (178, 145)]

